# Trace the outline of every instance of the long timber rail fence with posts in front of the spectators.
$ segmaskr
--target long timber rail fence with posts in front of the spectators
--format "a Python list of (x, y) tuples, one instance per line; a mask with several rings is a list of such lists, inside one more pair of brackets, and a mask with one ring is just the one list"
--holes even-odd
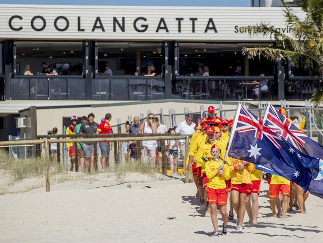
[[(10, 147), (19, 145), (36, 145), (43, 144), (44, 146), (44, 162), (45, 162), (45, 180), (46, 180), (46, 192), (50, 191), (50, 174), (49, 174), (49, 160), (50, 160), (50, 144), (51, 143), (66, 143), (72, 142), (74, 148), (77, 148), (78, 142), (93, 142), (94, 149), (94, 162), (97, 166), (97, 146), (98, 142), (118, 142), (118, 141), (144, 141), (144, 140), (170, 140), (170, 139), (185, 139), (186, 144), (189, 144), (189, 139), (191, 135), (165, 135), (159, 133), (147, 134), (60, 134), (60, 135), (38, 135), (39, 139), (31, 140), (13, 140), (13, 141), (0, 141), (0, 147)], [(116, 146), (118, 147), (118, 146)], [(75, 150), (76, 151), (76, 150)], [(162, 154), (162, 167), (161, 172), (166, 173), (166, 148), (161, 146)], [(188, 156), (188, 149), (186, 149), (186, 156)], [(116, 161), (115, 161), (116, 162)], [(183, 162), (184, 164), (185, 162)], [(97, 169), (97, 168), (93, 168)], [(191, 172), (185, 169), (186, 183), (192, 181), (193, 177)]]

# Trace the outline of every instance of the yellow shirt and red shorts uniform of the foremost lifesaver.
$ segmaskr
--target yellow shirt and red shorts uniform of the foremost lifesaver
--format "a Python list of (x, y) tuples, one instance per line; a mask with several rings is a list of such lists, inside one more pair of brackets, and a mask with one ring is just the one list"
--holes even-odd
[(210, 160), (205, 163), (205, 173), (209, 180), (207, 183), (206, 195), (209, 204), (216, 203), (217, 205), (227, 205), (228, 190), (226, 180), (230, 178), (230, 169), (227, 163), (224, 164), (223, 173), (219, 174), (219, 166), (223, 160)]

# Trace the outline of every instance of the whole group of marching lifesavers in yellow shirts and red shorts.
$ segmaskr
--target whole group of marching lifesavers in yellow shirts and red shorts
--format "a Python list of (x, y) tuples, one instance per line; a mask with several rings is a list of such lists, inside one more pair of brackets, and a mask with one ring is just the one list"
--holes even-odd
[[(188, 170), (193, 171), (197, 187), (196, 197), (200, 199), (201, 209), (205, 216), (211, 217), (214, 236), (220, 236), (218, 230), (217, 210), (223, 220), (222, 234), (228, 232), (228, 220), (234, 221), (236, 213), (237, 231), (243, 232), (245, 211), (249, 225), (257, 224), (258, 196), (261, 180), (269, 183), (270, 207), (273, 217), (286, 218), (287, 210), (300, 209), (305, 213), (305, 201), (308, 192), (302, 187), (282, 176), (263, 173), (255, 165), (241, 159), (225, 157), (225, 150), (230, 138), (233, 120), (222, 120), (214, 113), (214, 107), (208, 108), (208, 118), (202, 118), (195, 126), (196, 131), (190, 140), (189, 158), (186, 161)], [(279, 112), (286, 117), (286, 111)], [(290, 120), (291, 121), (291, 120)], [(291, 121), (293, 122), (293, 121)], [(294, 120), (294, 124), (296, 124)], [(305, 117), (297, 126), (303, 129)], [(227, 199), (230, 209), (227, 212)], [(277, 209), (277, 211), (276, 211)]]

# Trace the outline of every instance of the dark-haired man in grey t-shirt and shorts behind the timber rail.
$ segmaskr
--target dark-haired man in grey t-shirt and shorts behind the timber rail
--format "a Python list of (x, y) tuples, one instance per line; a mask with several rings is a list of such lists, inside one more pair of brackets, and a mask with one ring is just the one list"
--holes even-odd
[[(94, 134), (97, 130), (98, 123), (94, 122), (94, 114), (90, 113), (87, 116), (87, 121), (82, 123), (80, 128), (80, 134)], [(83, 142), (83, 151), (85, 157), (85, 170), (89, 171), (91, 163), (91, 172), (94, 172), (94, 146), (92, 142)], [(92, 154), (91, 154), (92, 152)]]

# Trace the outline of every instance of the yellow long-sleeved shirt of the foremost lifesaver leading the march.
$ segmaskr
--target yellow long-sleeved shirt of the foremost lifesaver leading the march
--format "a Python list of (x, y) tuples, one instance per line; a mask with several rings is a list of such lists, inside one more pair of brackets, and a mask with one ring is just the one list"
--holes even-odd
[(219, 161), (210, 160), (205, 163), (205, 173), (209, 179), (208, 187), (213, 189), (224, 189), (227, 187), (226, 180), (230, 179), (230, 169), (227, 163), (224, 164), (223, 172), (224, 175), (220, 175), (217, 168), (222, 164), (222, 159)]

